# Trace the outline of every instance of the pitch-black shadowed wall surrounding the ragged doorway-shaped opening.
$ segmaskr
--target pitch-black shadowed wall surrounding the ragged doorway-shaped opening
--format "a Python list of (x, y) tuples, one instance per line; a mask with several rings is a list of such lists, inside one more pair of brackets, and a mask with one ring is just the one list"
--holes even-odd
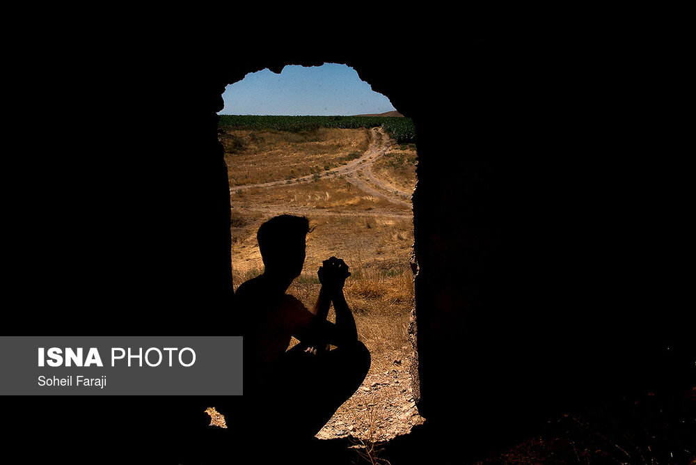
[[(416, 392), (431, 427), (524, 430), (559, 406), (681, 381), (693, 347), (674, 267), (688, 237), (670, 136), (677, 63), (650, 48), (617, 58), (553, 38), (450, 38), (404, 38), (388, 54), (292, 38), (234, 54), (156, 40), (96, 61), (48, 52), (68, 76), (50, 107), (26, 94), (10, 228), (12, 286), (31, 317), (10, 332), (235, 333), (221, 93), (247, 72), (326, 61), (416, 123)], [(205, 421), (180, 414), (204, 403), (25, 408), (52, 413), (49, 427), (77, 406), (164, 436)], [(144, 426), (151, 408), (167, 419), (159, 433)]]

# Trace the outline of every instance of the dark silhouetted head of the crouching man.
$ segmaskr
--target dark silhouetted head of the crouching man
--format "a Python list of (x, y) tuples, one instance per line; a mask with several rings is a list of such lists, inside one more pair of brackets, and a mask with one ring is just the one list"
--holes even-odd
[(256, 233), (266, 271), (296, 278), (305, 259), (309, 221), (304, 216), (274, 216)]

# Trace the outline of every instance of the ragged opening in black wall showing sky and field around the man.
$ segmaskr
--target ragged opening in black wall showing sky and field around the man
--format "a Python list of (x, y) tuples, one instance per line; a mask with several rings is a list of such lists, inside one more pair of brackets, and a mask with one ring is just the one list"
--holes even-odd
[(223, 100), (219, 141), (230, 183), (235, 289), (262, 273), (256, 231), (279, 214), (306, 216), (312, 228), (302, 274), (288, 294), (310, 308), (322, 260), (337, 256), (351, 269), (346, 299), (372, 366), (317, 437), (375, 441), (409, 433), (423, 421), (409, 373), (413, 122), (337, 63), (253, 72), (230, 84)]

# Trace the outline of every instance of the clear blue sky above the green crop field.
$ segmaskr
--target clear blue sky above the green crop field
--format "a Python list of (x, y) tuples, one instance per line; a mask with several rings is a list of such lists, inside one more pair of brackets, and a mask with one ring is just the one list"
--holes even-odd
[(360, 115), (393, 111), (389, 99), (361, 81), (353, 68), (335, 63), (262, 70), (230, 84), (221, 115)]

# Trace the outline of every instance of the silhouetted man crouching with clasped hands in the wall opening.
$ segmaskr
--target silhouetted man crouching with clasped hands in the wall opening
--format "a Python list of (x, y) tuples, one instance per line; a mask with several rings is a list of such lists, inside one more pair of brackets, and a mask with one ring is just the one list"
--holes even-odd
[[(331, 257), (319, 267), (322, 288), (311, 310), (285, 293), (302, 271), (308, 232), (303, 216), (263, 223), (257, 239), (264, 272), (235, 294), (244, 327), (247, 420), (265, 430), (279, 426), (278, 435), (297, 439), (317, 434), (370, 369), (370, 352), (358, 341), (343, 295), (350, 276), (343, 260)], [(326, 320), (332, 302), (335, 324)], [(300, 342), (287, 350), (292, 336)]]

